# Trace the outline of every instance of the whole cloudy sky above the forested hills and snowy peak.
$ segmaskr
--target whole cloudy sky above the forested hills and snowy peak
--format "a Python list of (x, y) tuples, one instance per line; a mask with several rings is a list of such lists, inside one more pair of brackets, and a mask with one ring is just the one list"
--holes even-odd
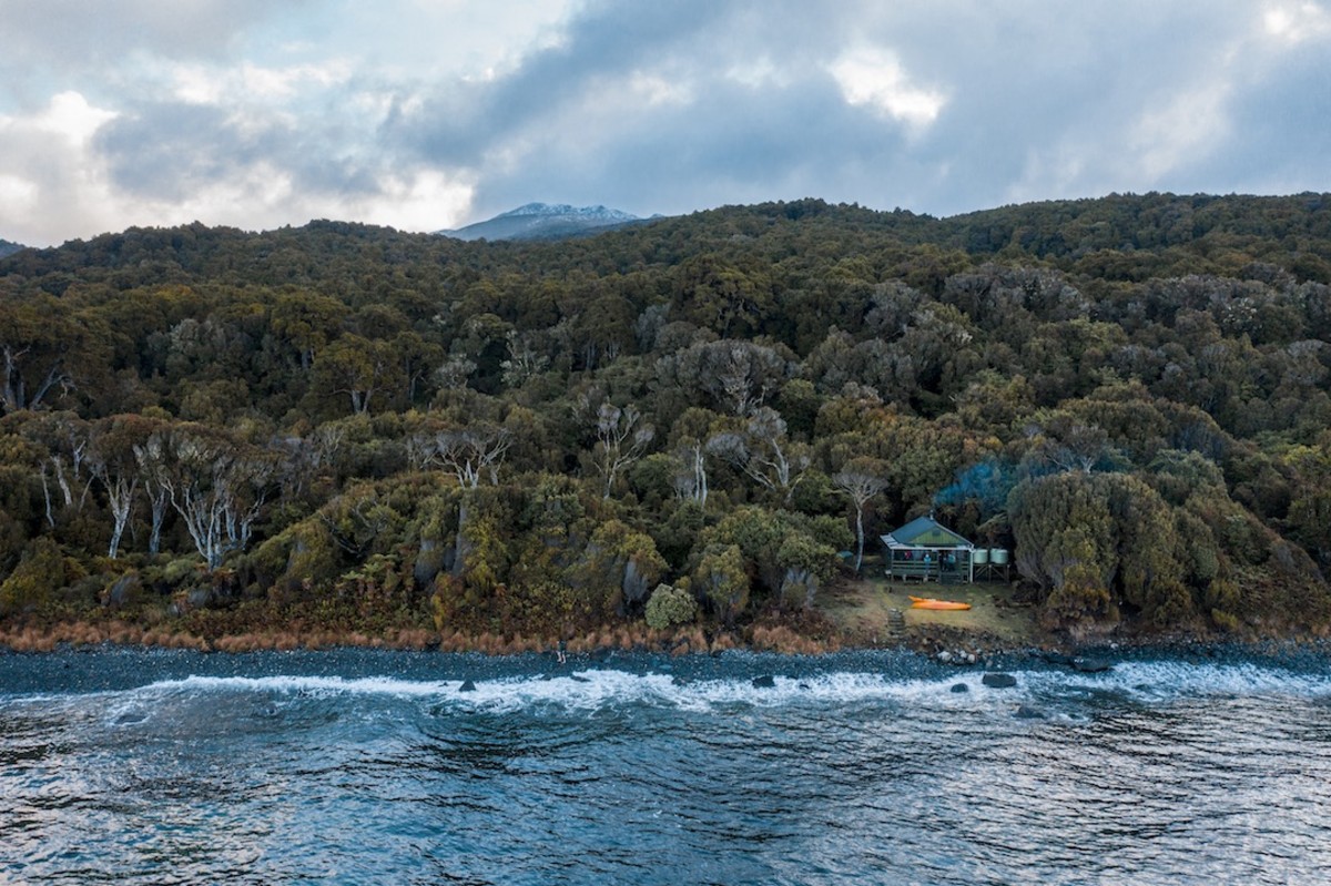
[(1331, 0), (0, 0), (0, 238), (1331, 190)]

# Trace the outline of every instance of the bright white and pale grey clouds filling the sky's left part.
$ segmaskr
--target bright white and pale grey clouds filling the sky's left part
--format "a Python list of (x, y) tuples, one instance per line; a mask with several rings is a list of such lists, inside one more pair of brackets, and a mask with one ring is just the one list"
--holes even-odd
[(502, 71), (558, 43), (567, 1), (483, 15), (479, 0), (0, 0), (0, 235), (48, 245), (196, 218), (461, 225), (474, 174), (381, 126), (435, 72)]

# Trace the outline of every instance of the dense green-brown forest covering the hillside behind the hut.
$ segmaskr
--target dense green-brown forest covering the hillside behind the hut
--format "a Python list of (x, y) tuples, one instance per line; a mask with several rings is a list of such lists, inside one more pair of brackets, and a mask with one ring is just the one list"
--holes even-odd
[(1331, 194), (25, 249), (0, 627), (816, 629), (934, 512), (1050, 631), (1323, 633), (1328, 341)]

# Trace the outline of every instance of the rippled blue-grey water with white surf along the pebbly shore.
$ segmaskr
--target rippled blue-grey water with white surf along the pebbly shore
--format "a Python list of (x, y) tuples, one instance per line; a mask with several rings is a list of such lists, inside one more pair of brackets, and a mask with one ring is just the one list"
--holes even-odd
[(0, 882), (1327, 883), (1328, 664), (0, 653)]

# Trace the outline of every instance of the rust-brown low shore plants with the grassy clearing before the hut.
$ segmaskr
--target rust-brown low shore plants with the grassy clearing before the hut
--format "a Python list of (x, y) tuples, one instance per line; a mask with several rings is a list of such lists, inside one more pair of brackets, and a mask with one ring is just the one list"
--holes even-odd
[[(1034, 604), (1016, 585), (949, 588), (950, 599), (972, 601), (976, 615), (926, 612), (909, 608), (916, 584), (892, 587), (884, 581), (852, 580), (829, 588), (828, 601), (816, 613), (801, 613), (791, 624), (768, 620), (733, 631), (715, 631), (693, 624), (669, 629), (648, 628), (643, 623), (602, 625), (583, 633), (539, 636), (461, 631), (439, 633), (430, 628), (398, 627), (378, 632), (309, 627), (297, 617), (277, 628), (226, 632), (214, 621), (202, 628), (181, 620), (144, 627), (122, 619), (57, 621), (44, 625), (0, 627), (0, 652), (43, 653), (104, 645), (144, 649), (189, 649), (204, 653), (245, 653), (258, 651), (291, 652), (334, 648), (390, 649), (411, 652), (480, 653), (511, 656), (538, 653), (571, 659), (604, 659), (619, 652), (658, 653), (672, 657), (719, 655), (744, 649), (779, 655), (817, 656), (853, 649), (908, 649), (957, 665), (977, 664), (1002, 655), (1077, 656), (1102, 653), (1106, 648), (1197, 649), (1210, 647), (1270, 648), (1272, 643), (1296, 647), (1323, 645), (1326, 632), (1247, 635), (1236, 637), (1218, 632), (1151, 631), (1073, 637), (1040, 627)], [(893, 632), (893, 609), (909, 615), (905, 628)], [(262, 620), (249, 613), (245, 623)], [(218, 632), (221, 629), (221, 632)]]

